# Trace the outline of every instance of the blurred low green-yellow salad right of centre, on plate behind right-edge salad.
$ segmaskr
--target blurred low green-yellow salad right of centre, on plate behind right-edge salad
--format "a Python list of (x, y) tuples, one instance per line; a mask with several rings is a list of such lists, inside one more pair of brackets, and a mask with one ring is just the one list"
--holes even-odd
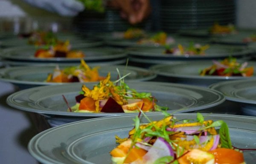
[(205, 50), (209, 49), (209, 45), (202, 46), (201, 44), (190, 43), (188, 47), (178, 44), (177, 47), (171, 48), (166, 46), (165, 54), (172, 54), (176, 56), (181, 55), (205, 55)]

